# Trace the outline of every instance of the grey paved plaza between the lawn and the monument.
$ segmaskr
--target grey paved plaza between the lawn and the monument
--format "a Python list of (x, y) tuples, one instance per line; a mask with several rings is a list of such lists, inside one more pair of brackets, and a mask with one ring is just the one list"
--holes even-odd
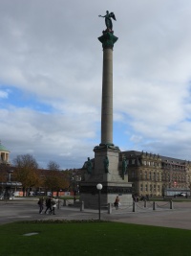
[[(63, 206), (60, 203), (55, 215), (40, 215), (38, 213), (37, 200), (0, 200), (0, 224), (12, 221), (32, 220), (97, 220), (98, 210), (84, 209)], [(101, 210), (101, 220), (118, 221), (124, 223), (136, 223), (145, 225), (175, 227), (191, 229), (191, 202), (173, 202), (173, 209), (157, 208), (156, 210), (139, 209), (133, 212), (132, 209), (118, 210), (113, 208), (111, 214), (107, 210)]]

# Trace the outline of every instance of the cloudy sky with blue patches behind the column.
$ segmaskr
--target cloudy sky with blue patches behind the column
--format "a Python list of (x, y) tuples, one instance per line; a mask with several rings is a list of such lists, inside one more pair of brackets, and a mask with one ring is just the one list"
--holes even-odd
[(106, 10), (115, 12), (114, 143), (191, 160), (190, 0), (0, 0), (0, 140), (42, 168), (100, 143)]

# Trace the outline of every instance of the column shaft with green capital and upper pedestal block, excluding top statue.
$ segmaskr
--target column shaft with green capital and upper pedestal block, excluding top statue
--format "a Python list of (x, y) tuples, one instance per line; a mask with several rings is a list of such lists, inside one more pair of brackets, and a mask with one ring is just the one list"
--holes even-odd
[[(112, 31), (103, 31), (98, 37), (103, 47), (101, 142), (96, 146), (93, 174), (99, 180), (120, 179), (118, 175), (119, 149), (113, 144), (113, 47), (117, 36)], [(106, 168), (106, 162), (108, 167)]]

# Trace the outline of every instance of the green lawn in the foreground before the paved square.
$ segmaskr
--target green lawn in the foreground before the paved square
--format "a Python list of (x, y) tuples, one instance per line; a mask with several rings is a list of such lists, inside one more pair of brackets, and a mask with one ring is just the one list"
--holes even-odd
[[(32, 232), (38, 234), (24, 236)], [(14, 222), (0, 226), (0, 256), (190, 254), (191, 230), (117, 222)]]

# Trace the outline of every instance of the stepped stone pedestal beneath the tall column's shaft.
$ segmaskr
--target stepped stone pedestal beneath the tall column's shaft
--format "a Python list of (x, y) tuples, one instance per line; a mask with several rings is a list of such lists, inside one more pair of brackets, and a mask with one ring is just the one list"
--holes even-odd
[[(119, 168), (119, 149), (115, 146), (95, 147), (95, 168), (92, 174), (85, 175), (85, 180), (80, 186), (80, 200), (84, 201), (85, 208), (98, 207), (98, 191), (96, 185), (101, 183), (101, 206), (107, 207), (108, 203), (114, 203), (119, 196), (122, 204), (132, 202), (132, 183), (128, 182), (128, 175), (121, 176)], [(109, 159), (109, 173), (105, 173), (104, 158)]]

